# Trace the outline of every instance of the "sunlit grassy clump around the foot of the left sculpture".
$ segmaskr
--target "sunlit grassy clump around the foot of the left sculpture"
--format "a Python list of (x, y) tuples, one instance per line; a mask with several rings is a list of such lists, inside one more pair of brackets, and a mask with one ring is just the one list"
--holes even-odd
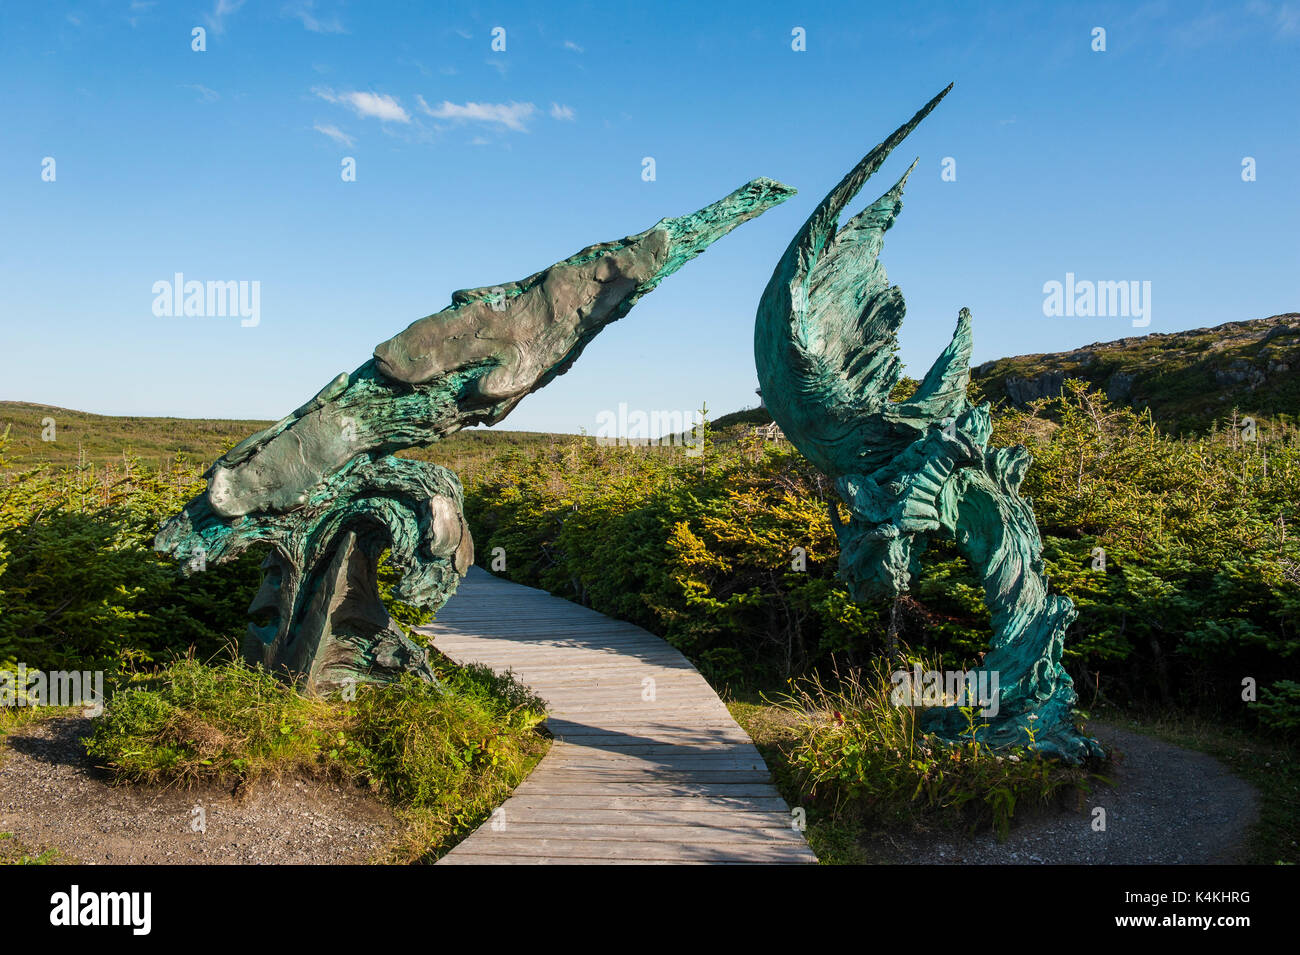
[(419, 856), (486, 819), (546, 746), (542, 702), (510, 676), (448, 664), (438, 676), (325, 700), (239, 663), (178, 660), (117, 691), (87, 751), (121, 782), (303, 773), (365, 785), (407, 813), (420, 838), (404, 851)]

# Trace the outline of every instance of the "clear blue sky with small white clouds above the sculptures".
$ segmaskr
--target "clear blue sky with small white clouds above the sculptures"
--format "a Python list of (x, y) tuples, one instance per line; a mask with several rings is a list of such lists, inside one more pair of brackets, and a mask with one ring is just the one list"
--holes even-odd
[[(800, 195), (502, 426), (751, 405), (754, 309), (780, 252), (949, 82), (863, 196), (919, 157), (883, 256), (910, 373), (963, 305), (976, 363), (1297, 311), (1297, 53), (1295, 0), (6, 4), (0, 399), (280, 417), (456, 288), (768, 175)], [(155, 316), (174, 273), (260, 282), (259, 324)], [(1150, 282), (1150, 325), (1044, 316), (1066, 273)]]

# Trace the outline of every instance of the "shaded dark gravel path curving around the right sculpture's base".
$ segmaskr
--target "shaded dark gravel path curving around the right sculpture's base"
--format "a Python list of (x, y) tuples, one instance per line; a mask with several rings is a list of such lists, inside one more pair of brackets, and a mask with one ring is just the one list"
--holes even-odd
[[(1089, 729), (1118, 751), (1109, 773), (1080, 812), (1018, 819), (1004, 842), (976, 837), (880, 834), (868, 851), (880, 861), (913, 864), (1214, 864), (1240, 861), (1258, 819), (1254, 789), (1210, 756), (1105, 724)], [(1104, 832), (1093, 811), (1106, 811)], [(1019, 817), (1019, 813), (1017, 813)]]

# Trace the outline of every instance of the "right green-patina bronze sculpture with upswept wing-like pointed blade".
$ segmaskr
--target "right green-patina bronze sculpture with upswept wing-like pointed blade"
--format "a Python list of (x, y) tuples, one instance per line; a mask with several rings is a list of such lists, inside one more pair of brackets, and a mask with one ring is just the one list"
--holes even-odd
[[(985, 717), (975, 717), (978, 738), (1082, 761), (1101, 748), (1074, 725), (1076, 696), (1061, 665), (1075, 609), (1048, 592), (1037, 524), (1019, 495), (1028, 452), (989, 450), (989, 405), (966, 399), (970, 312), (961, 309), (952, 342), (915, 394), (889, 400), (901, 377), (894, 352), (905, 305), (878, 256), (911, 169), (840, 225), (844, 208), (948, 90), (867, 153), (785, 249), (758, 307), (758, 378), (774, 420), (848, 507), (848, 524), (835, 504), (831, 517), (840, 576), (854, 598), (897, 598), (927, 538), (954, 538), (983, 577), (992, 613), (980, 685), (997, 686), (998, 695)], [(957, 707), (923, 709), (922, 721), (949, 739), (968, 733)]]

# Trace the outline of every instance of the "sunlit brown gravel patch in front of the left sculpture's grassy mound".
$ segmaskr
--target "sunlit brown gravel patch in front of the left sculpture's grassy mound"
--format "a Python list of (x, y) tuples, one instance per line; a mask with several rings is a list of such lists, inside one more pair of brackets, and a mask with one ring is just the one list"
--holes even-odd
[[(377, 799), (307, 780), (226, 789), (109, 786), (79, 745), (90, 720), (16, 730), (0, 754), (0, 833), (57, 861), (347, 864), (372, 859), (399, 830)], [(205, 832), (196, 832), (203, 808)]]

